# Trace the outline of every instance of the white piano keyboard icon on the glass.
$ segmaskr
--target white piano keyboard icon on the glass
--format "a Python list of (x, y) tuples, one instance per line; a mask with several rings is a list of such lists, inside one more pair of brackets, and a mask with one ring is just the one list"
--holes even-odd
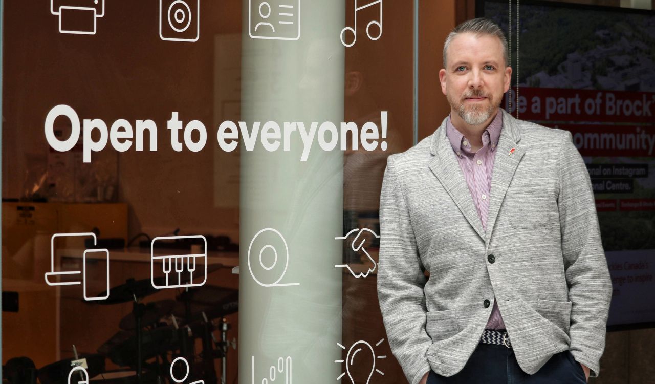
[[(158, 240), (178, 240), (178, 239), (202, 239), (204, 246), (202, 252), (193, 251), (188, 254), (177, 255), (155, 255), (155, 242)], [(164, 285), (155, 283), (155, 266), (162, 271), (166, 277)], [(193, 282), (193, 275), (202, 273), (201, 282)], [(188, 274), (188, 275), (187, 275)], [(196, 274), (196, 277), (198, 275)], [(150, 243), (150, 281), (154, 288), (185, 288), (192, 286), (202, 286), (207, 281), (207, 239), (202, 235), (189, 236), (162, 236), (155, 237)]]

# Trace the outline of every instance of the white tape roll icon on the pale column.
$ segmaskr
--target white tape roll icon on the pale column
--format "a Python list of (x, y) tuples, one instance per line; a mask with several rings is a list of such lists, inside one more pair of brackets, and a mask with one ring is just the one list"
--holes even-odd
[[(261, 246), (262, 243), (265, 245)], [(253, 251), (253, 244), (255, 245), (254, 251)], [(280, 277), (278, 277), (277, 280), (271, 283), (261, 282), (259, 278), (255, 277), (255, 273), (253, 272), (252, 269), (252, 261), (250, 259), (252, 258), (253, 253), (256, 252), (258, 255), (257, 257), (259, 258), (259, 266), (263, 268), (265, 271), (271, 271), (278, 263), (278, 249), (283, 253), (282, 257), (284, 258), (284, 269), (282, 270), (282, 273), (279, 273)], [(272, 252), (272, 256), (274, 258), (271, 265), (266, 265), (264, 263), (264, 259), (262, 256), (264, 255), (265, 252), (269, 254)], [(248, 246), (248, 270), (250, 271), (250, 275), (252, 276), (253, 279), (255, 279), (257, 284), (261, 286), (300, 285), (299, 282), (286, 282), (286, 283), (280, 282), (280, 280), (282, 280), (282, 278), (284, 277), (284, 274), (286, 273), (288, 267), (289, 267), (289, 246), (287, 245), (284, 236), (282, 236), (282, 233), (272, 228), (265, 228), (257, 232), (257, 235), (255, 235), (255, 237), (253, 237), (253, 239), (250, 241), (250, 246)]]

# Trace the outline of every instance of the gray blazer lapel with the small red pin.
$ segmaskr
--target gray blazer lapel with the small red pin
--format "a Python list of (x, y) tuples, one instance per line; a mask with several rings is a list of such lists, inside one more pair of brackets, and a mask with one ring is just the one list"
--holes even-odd
[[(500, 138), (498, 139), (498, 146), (496, 147), (496, 157), (493, 164), (493, 172), (491, 174), (489, 212), (487, 214), (487, 233), (485, 234), (485, 242), (489, 241), (494, 224), (496, 223), (496, 218), (498, 218), (500, 205), (505, 199), (507, 189), (512, 182), (512, 178), (514, 178), (514, 172), (517, 166), (519, 166), (519, 162), (525, 153), (525, 151), (517, 145), (519, 140), (521, 140), (521, 134), (516, 125), (516, 120), (504, 109), (500, 108), (500, 111), (502, 111), (502, 130), (500, 131)], [(514, 151), (512, 151), (512, 149), (514, 149)], [(510, 151), (512, 151), (511, 155)]]

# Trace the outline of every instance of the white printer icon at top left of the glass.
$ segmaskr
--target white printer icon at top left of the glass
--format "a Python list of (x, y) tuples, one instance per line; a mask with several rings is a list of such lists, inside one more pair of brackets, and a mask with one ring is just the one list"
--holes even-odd
[(82, 2), (86, 5), (84, 7), (66, 5), (66, 3), (70, 3), (70, 0), (50, 0), (50, 13), (59, 16), (59, 32), (95, 35), (98, 19), (105, 16), (105, 0), (85, 0)]

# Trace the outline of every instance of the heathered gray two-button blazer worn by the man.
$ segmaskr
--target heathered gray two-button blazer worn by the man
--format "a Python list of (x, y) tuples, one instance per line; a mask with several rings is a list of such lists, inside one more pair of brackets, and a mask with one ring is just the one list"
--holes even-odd
[(569, 349), (599, 372), (612, 283), (588, 171), (569, 131), (502, 113), (486, 232), (445, 120), (387, 161), (377, 290), (412, 384), (462, 370), (494, 298), (523, 371)]

